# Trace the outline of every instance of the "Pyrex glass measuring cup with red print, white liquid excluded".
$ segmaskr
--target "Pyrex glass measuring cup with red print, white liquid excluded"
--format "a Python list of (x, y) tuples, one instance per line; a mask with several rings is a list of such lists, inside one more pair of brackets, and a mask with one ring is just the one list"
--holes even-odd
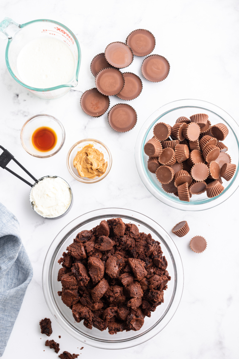
[[(63, 24), (47, 19), (29, 21), (25, 24), (18, 24), (10, 18), (0, 22), (0, 31), (8, 37), (5, 60), (8, 70), (20, 85), (28, 89), (34, 95), (45, 99), (54, 99), (66, 94), (72, 87), (78, 84), (78, 74), (81, 63), (81, 50), (77, 38), (73, 32)], [(67, 84), (50, 88), (35, 88), (24, 84), (19, 78), (16, 61), (21, 49), (35, 38), (55, 37), (70, 47), (75, 59), (75, 70), (73, 79)]]

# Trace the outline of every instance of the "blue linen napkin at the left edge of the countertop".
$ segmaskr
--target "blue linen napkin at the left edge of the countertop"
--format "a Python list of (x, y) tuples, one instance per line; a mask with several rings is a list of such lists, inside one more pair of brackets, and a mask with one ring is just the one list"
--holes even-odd
[(16, 217), (0, 203), (0, 356), (32, 279), (32, 265)]

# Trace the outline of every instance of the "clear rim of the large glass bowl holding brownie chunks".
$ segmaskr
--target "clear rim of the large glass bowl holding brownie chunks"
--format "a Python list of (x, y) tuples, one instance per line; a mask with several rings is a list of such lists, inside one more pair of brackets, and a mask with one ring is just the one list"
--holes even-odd
[[(173, 296), (169, 303), (167, 311), (163, 314), (161, 318), (159, 318), (158, 322), (145, 333), (139, 334), (133, 339), (122, 339), (108, 342), (107, 340), (99, 340), (94, 339), (90, 335), (83, 335), (75, 331), (73, 327), (64, 319), (63, 315), (54, 304), (52, 288), (51, 288), (51, 274), (52, 274), (52, 266), (54, 261), (58, 260), (56, 258), (59, 247), (61, 247), (62, 243), (66, 238), (68, 238), (77, 228), (85, 225), (92, 220), (102, 220), (107, 217), (121, 217), (127, 218), (129, 220), (136, 219), (142, 225), (148, 227), (152, 232), (155, 233), (157, 237), (161, 239), (164, 246), (166, 246), (172, 260), (174, 274), (175, 274), (175, 282), (173, 289)], [(176, 267), (177, 263), (177, 267)], [(125, 349), (131, 348), (135, 345), (142, 344), (143, 342), (151, 339), (156, 334), (158, 334), (172, 319), (175, 314), (177, 307), (180, 303), (182, 292), (183, 292), (183, 266), (180, 254), (177, 250), (175, 243), (169, 234), (154, 220), (151, 218), (123, 208), (103, 208), (97, 209), (94, 211), (90, 211), (85, 213), (78, 218), (74, 219), (72, 222), (66, 225), (61, 232), (59, 232), (56, 238), (53, 240), (51, 246), (48, 249), (46, 258), (44, 260), (43, 271), (42, 271), (42, 286), (43, 293), (47, 303), (47, 306), (52, 313), (55, 320), (58, 324), (64, 329), (68, 334), (70, 334), (73, 338), (79, 340), (80, 342), (94, 346), (96, 348), (101, 349)]]

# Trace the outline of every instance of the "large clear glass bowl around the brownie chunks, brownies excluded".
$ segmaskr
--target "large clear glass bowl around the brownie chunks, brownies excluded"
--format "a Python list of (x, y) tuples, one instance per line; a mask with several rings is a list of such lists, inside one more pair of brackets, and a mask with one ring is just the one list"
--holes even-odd
[[(77, 233), (96, 227), (101, 220), (122, 218), (125, 223), (134, 223), (140, 232), (150, 233), (156, 241), (160, 242), (163, 255), (165, 255), (171, 276), (168, 288), (164, 292), (164, 303), (151, 313), (151, 317), (144, 318), (144, 325), (138, 331), (119, 332), (110, 335), (107, 330), (91, 330), (83, 325), (83, 321), (76, 323), (72, 311), (58, 296), (62, 290), (61, 282), (57, 281), (57, 274), (61, 266), (57, 262), (62, 257)], [(52, 316), (57, 323), (73, 338), (83, 344), (101, 349), (125, 349), (151, 339), (158, 334), (172, 319), (180, 303), (183, 291), (183, 266), (177, 247), (169, 234), (156, 222), (147, 216), (123, 208), (104, 208), (85, 213), (66, 225), (53, 240), (47, 252), (42, 272), (42, 286), (44, 297)]]

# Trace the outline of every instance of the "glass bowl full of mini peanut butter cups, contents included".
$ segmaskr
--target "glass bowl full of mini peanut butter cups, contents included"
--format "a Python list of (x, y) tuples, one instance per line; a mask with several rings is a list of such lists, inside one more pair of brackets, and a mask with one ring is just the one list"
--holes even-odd
[(139, 131), (139, 177), (154, 197), (171, 207), (215, 207), (239, 186), (238, 138), (238, 124), (220, 107), (193, 99), (168, 103)]

